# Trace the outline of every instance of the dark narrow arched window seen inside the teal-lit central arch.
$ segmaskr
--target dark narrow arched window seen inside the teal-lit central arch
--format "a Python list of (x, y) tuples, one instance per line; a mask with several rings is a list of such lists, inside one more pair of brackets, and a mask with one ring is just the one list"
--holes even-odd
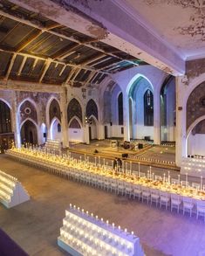
[(153, 93), (149, 89), (144, 94), (144, 125), (154, 125), (154, 99)]

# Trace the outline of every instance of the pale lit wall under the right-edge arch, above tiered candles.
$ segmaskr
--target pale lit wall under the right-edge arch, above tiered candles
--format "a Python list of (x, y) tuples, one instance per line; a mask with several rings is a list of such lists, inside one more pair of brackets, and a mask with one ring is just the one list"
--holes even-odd
[(188, 155), (205, 156), (205, 135), (196, 134), (188, 136)]

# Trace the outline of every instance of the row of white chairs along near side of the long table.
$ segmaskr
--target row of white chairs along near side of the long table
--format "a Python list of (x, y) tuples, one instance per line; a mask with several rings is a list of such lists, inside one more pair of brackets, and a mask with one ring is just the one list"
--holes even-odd
[[(78, 170), (76, 168), (69, 167), (66, 164), (62, 166), (63, 163), (48, 163), (44, 159), (37, 161), (35, 158), (31, 158), (29, 156), (18, 157), (18, 159), (20, 161), (29, 163), (34, 167), (40, 167), (43, 170), (49, 171), (55, 175), (64, 176), (65, 178), (92, 185), (98, 187), (99, 189), (111, 192), (114, 191), (118, 195), (133, 197), (133, 199), (137, 197), (139, 201), (141, 199), (142, 202), (147, 201), (147, 204), (155, 203), (156, 206), (159, 204), (160, 207), (165, 205), (166, 210), (167, 207), (170, 206), (171, 211), (173, 211), (175, 208), (179, 213), (180, 209), (182, 208), (183, 214), (186, 211), (189, 211), (190, 217), (192, 216), (193, 209), (196, 206), (196, 218), (202, 215), (205, 221), (205, 202), (201, 200), (197, 201), (195, 205), (191, 197), (181, 197), (177, 194), (170, 194), (166, 191), (152, 189), (140, 184), (120, 181), (119, 179), (102, 176), (88, 172), (87, 170)], [(141, 173), (141, 175), (143, 176), (143, 173)], [(174, 181), (172, 182), (174, 183)], [(198, 183), (195, 183), (195, 185), (198, 186)]]

